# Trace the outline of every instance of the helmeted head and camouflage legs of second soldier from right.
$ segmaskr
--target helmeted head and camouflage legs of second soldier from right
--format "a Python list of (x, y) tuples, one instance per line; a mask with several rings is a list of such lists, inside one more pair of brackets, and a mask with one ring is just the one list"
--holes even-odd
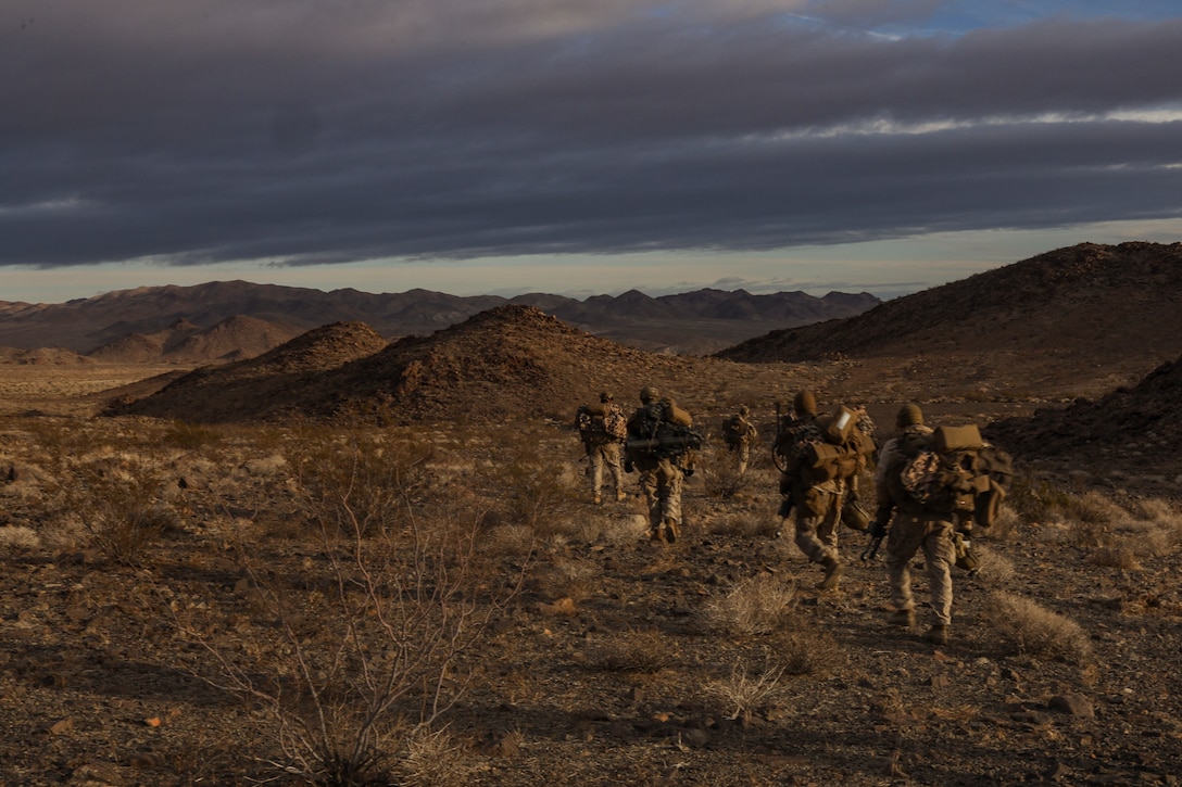
[[(807, 438), (820, 438), (817, 427), (817, 399), (812, 391), (803, 390), (792, 403), (793, 421), (788, 429)], [(799, 437), (798, 437), (799, 440)], [(780, 479), (780, 493), (788, 496), (795, 508), (794, 542), (813, 562), (825, 568), (817, 584), (820, 590), (834, 590), (842, 577), (842, 554), (837, 533), (842, 521), (842, 501), (846, 493), (845, 479), (830, 479), (811, 483), (800, 473), (786, 473)], [(785, 508), (781, 508), (785, 512)]]

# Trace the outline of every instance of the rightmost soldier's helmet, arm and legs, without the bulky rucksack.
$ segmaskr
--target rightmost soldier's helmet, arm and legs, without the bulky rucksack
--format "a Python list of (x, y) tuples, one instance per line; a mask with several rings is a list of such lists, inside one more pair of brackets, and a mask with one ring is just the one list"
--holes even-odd
[(923, 412), (915, 404), (900, 409), (895, 421), (898, 436), (886, 441), (875, 473), (878, 497), (877, 522), (885, 525), (894, 514), (895, 520), (886, 536), (886, 572), (890, 580), (891, 604), (895, 612), (890, 622), (900, 626), (915, 625), (915, 600), (911, 596), (909, 565), (916, 552), (923, 549), (928, 572), (928, 590), (931, 604), (931, 627), (924, 638), (936, 644), (948, 642), (952, 625), (953, 578), (952, 567), (956, 562), (953, 532), (956, 523), (952, 514), (924, 509), (918, 502), (898, 493), (897, 486), (888, 480), (889, 473), (898, 473), (905, 462), (901, 447), (909, 436), (928, 438), (931, 429), (923, 423)]

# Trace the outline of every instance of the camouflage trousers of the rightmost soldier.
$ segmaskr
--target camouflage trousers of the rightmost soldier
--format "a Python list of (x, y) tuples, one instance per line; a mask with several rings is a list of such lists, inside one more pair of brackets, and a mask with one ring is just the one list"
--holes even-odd
[(928, 588), (936, 625), (947, 626), (953, 616), (952, 566), (956, 561), (952, 521), (940, 515), (915, 516), (896, 513), (886, 536), (886, 571), (890, 577), (891, 603), (896, 610), (913, 610), (911, 572), (908, 564), (923, 548), (928, 564)]

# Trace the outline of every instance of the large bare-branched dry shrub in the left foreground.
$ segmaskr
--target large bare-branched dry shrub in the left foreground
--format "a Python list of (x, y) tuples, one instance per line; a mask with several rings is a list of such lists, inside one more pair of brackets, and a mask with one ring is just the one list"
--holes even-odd
[(423, 730), (467, 690), (466, 655), (520, 591), (528, 560), (489, 571), (480, 516), (421, 514), (427, 455), (356, 431), (293, 449), (319, 554), (291, 575), (271, 568), (252, 533), (235, 539), (272, 637), (227, 640), (204, 605), (170, 604), (181, 636), (209, 656), (200, 677), (265, 711), (281, 773), (329, 787), (385, 783), (400, 757), (418, 757), (408, 772), (417, 783), (462, 780), (459, 765), (424, 770), (418, 753), (448, 744)]

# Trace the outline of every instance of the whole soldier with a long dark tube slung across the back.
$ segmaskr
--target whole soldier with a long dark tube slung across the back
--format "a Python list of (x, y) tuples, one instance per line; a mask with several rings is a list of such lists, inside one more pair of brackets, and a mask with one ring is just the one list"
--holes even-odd
[(624, 469), (641, 474), (649, 506), (649, 538), (674, 542), (681, 535), (681, 487), (694, 471), (701, 436), (693, 417), (651, 385), (641, 391), (641, 406), (628, 421)]

